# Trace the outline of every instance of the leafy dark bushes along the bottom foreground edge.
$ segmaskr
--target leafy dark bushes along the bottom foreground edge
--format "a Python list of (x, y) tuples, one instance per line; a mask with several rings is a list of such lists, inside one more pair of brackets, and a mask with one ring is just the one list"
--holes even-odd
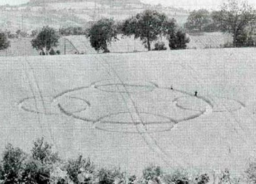
[[(171, 169), (171, 168), (170, 168)], [(170, 171), (169, 169), (169, 171)], [(256, 161), (251, 160), (243, 178), (234, 178), (228, 169), (214, 175), (217, 184), (254, 184)], [(185, 170), (163, 172), (159, 166), (146, 167), (142, 176), (116, 168), (96, 169), (90, 159), (62, 160), (51, 145), (38, 139), (30, 153), (8, 144), (0, 161), (0, 184), (208, 184), (208, 174), (189, 174)]]

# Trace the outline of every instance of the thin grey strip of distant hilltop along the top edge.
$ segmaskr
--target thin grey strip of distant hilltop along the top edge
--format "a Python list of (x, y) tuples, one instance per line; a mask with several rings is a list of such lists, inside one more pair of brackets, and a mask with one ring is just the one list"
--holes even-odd
[(96, 2), (106, 5), (125, 5), (125, 4), (143, 4), (140, 0), (30, 0), (27, 5), (43, 5), (48, 3), (77, 3), (77, 2)]

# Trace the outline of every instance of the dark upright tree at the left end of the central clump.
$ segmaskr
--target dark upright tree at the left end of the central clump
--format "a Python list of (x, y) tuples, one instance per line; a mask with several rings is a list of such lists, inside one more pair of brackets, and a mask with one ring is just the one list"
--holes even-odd
[(110, 52), (107, 44), (117, 40), (117, 26), (113, 19), (101, 19), (94, 23), (88, 30), (87, 38), (90, 39), (91, 46), (96, 50), (103, 50), (104, 53)]

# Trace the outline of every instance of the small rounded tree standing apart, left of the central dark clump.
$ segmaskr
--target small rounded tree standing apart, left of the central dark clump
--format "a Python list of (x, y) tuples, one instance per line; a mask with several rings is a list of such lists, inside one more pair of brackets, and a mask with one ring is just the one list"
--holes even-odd
[(57, 47), (59, 38), (60, 36), (53, 28), (46, 26), (36, 38), (32, 39), (31, 44), (37, 51), (40, 51), (40, 55), (49, 55), (53, 47)]

